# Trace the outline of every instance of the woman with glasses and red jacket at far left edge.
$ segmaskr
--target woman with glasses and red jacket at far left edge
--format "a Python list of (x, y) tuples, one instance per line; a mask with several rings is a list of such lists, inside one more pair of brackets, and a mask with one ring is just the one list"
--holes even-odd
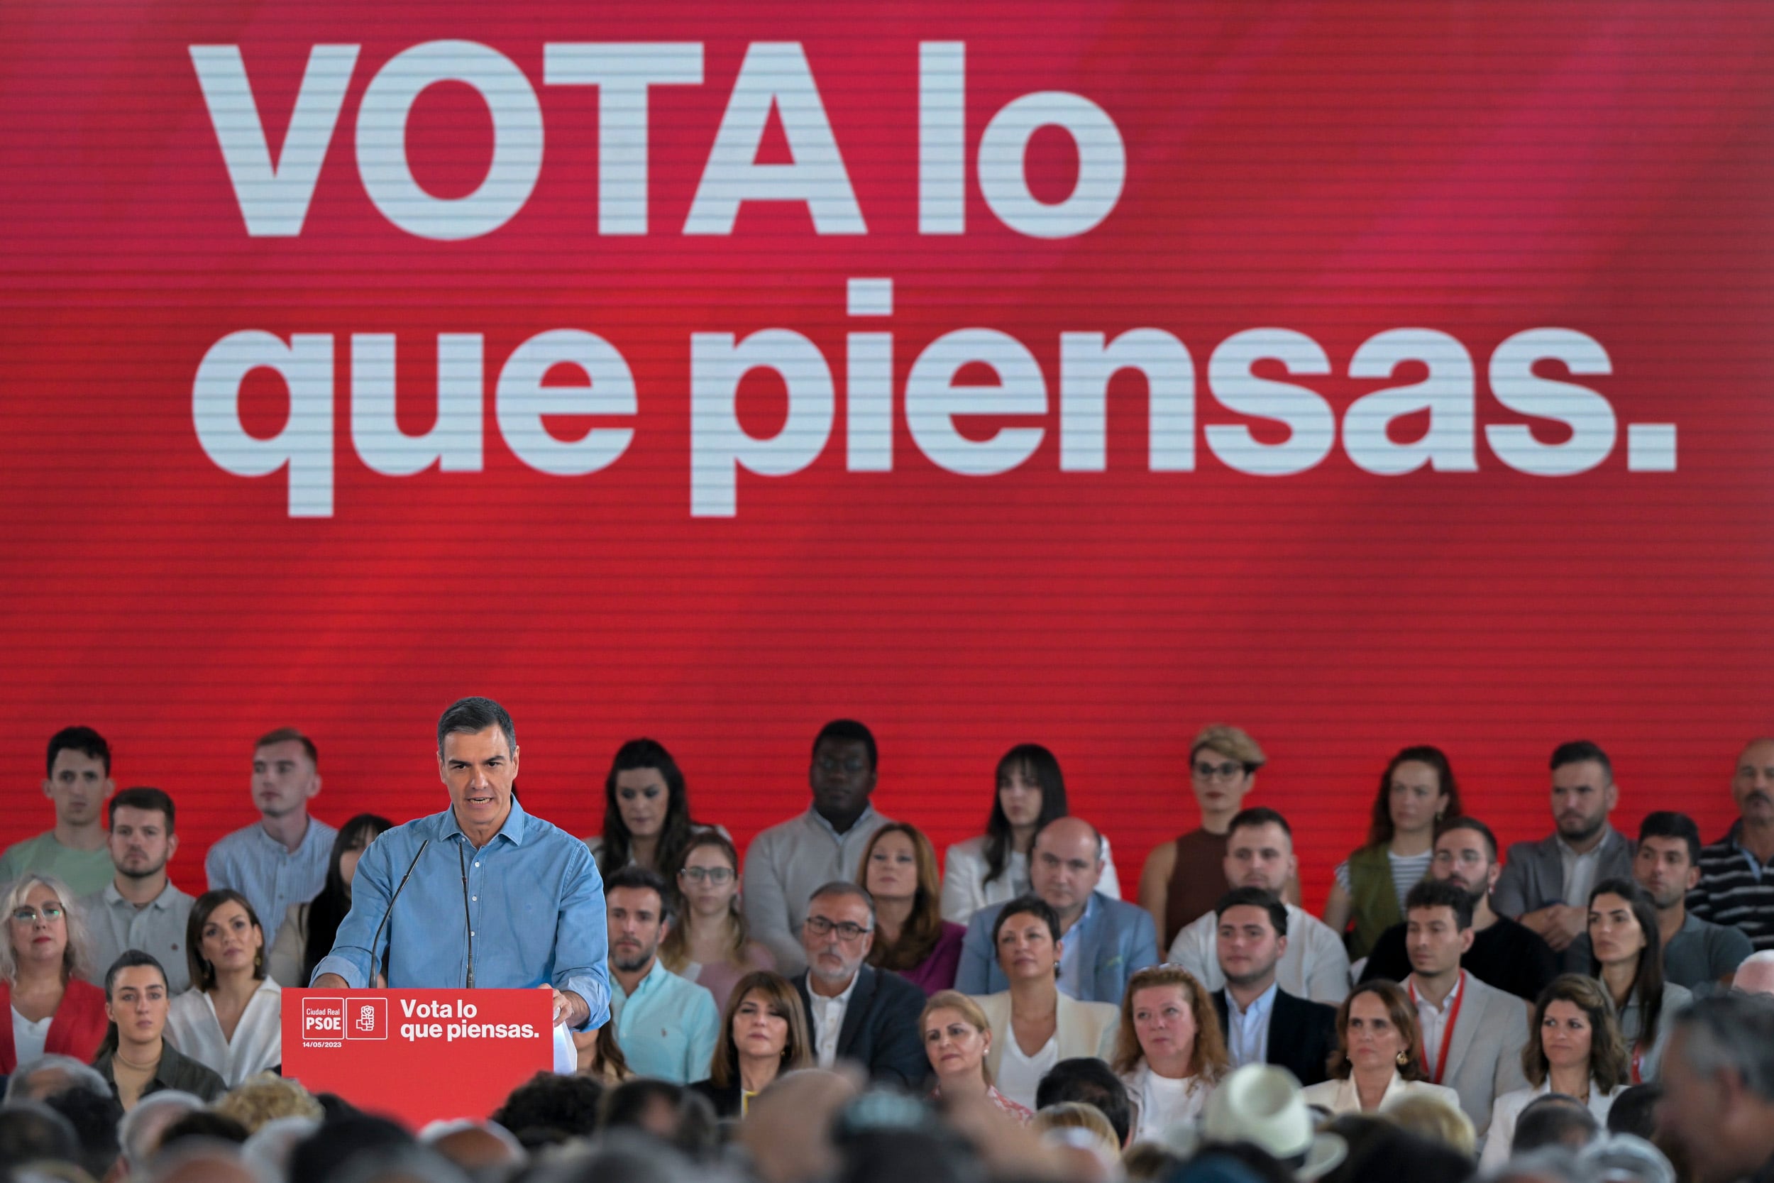
[(0, 1075), (44, 1055), (80, 1062), (105, 1038), (105, 991), (80, 979), (90, 945), (67, 885), (27, 874), (4, 897), (7, 942), (0, 949)]

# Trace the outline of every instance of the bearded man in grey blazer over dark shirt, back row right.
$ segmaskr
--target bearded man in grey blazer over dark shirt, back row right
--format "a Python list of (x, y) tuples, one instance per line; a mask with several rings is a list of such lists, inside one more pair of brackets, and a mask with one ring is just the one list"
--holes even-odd
[(1517, 842), (1497, 878), (1497, 912), (1540, 933), (1561, 954), (1565, 970), (1588, 974), (1572, 947), (1590, 924), (1590, 889), (1632, 876), (1632, 842), (1607, 825), (1620, 803), (1614, 764), (1588, 740), (1552, 752), (1554, 830), (1538, 842)]

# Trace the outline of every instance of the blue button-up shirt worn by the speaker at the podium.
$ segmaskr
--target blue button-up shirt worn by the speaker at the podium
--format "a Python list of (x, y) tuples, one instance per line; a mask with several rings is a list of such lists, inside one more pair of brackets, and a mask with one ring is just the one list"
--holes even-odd
[[(412, 878), (390, 912), (408, 867)], [(383, 917), (389, 922), (373, 949)], [(357, 864), (351, 912), (314, 977), (337, 974), (362, 990), (387, 951), (389, 986), (461, 986), (468, 981), (470, 935), (475, 986), (550, 984), (585, 1000), (587, 1027), (608, 1020), (610, 947), (598, 866), (582, 841), (523, 812), (516, 798), (506, 825), (479, 850), (454, 809), (376, 837)]]

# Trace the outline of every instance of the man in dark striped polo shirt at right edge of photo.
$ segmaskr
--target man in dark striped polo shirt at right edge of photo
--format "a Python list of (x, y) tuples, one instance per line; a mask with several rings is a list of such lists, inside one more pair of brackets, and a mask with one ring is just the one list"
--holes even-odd
[(1699, 887), (1687, 910), (1735, 924), (1756, 949), (1774, 949), (1774, 740), (1751, 740), (1731, 777), (1737, 821), (1699, 851)]

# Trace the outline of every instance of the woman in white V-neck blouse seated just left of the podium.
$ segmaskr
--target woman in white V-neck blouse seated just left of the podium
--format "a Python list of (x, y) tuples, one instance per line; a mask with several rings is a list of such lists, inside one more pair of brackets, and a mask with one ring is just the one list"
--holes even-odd
[(264, 929), (247, 897), (204, 892), (184, 931), (192, 988), (172, 1000), (167, 1039), (229, 1087), (284, 1062), (284, 991), (264, 975)]

